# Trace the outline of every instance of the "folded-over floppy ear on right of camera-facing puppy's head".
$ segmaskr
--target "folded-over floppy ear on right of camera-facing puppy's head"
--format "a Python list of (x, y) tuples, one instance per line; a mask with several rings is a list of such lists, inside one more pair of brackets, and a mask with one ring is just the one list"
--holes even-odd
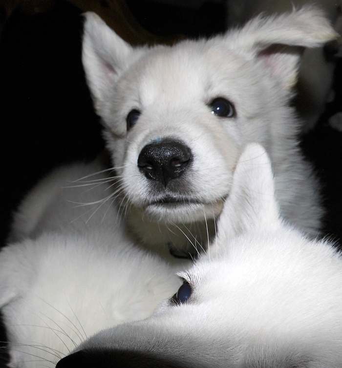
[(338, 34), (321, 9), (307, 5), (278, 16), (259, 15), (227, 37), (237, 49), (264, 61), (283, 87), (290, 88), (297, 82), (301, 52), (286, 46), (319, 47)]

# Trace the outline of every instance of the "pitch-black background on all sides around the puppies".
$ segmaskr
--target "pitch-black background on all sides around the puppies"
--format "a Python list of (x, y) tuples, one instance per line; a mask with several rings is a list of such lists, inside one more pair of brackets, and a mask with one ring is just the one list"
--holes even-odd
[[(210, 36), (226, 27), (223, 0), (126, 3), (142, 27), (163, 37)], [(5, 5), (0, 2), (0, 246), (13, 210), (43, 175), (59, 164), (90, 160), (103, 149), (81, 64), (81, 10), (59, 0), (30, 14), (16, 6), (8, 17)], [(327, 208), (324, 232), (335, 239), (342, 237), (342, 133), (327, 119), (342, 110), (341, 81), (338, 61), (336, 98), (316, 128), (300, 137), (321, 179)], [(6, 341), (1, 328), (0, 341)]]

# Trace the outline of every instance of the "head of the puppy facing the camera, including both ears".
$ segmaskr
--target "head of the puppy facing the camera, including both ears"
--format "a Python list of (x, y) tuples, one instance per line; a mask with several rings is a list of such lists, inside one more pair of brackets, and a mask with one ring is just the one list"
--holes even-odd
[(125, 200), (178, 224), (217, 215), (241, 147), (258, 142), (272, 155), (294, 137), (299, 53), (285, 46), (334, 37), (306, 7), (209, 40), (133, 48), (88, 13), (83, 62)]

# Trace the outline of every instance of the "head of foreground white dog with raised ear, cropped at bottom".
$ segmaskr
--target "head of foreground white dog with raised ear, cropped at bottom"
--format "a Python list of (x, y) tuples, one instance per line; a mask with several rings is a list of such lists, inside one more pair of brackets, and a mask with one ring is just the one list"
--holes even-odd
[(279, 219), (260, 146), (239, 159), (216, 241), (180, 277), (152, 317), (99, 332), (57, 367), (341, 366), (341, 257)]

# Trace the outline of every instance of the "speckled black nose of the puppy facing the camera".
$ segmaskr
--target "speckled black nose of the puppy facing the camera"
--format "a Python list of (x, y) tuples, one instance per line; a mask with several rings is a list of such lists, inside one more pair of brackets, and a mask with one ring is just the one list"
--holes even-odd
[(165, 184), (180, 177), (189, 166), (190, 148), (180, 141), (165, 139), (147, 144), (138, 157), (138, 167), (148, 179)]

